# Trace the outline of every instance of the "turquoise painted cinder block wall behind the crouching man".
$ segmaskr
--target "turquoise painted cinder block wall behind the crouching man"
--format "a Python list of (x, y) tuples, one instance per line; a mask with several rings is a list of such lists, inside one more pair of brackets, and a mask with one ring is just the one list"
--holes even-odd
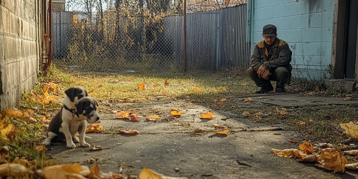
[(324, 77), (331, 61), (334, 0), (248, 1), (252, 48), (262, 40), (262, 27), (274, 24), (278, 37), (292, 50), (292, 74), (309, 79)]

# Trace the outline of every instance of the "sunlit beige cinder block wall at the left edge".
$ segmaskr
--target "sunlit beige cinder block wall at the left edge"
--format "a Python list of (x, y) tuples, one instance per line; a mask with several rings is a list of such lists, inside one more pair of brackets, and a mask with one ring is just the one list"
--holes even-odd
[(0, 0), (0, 108), (14, 107), (37, 81), (41, 2)]

